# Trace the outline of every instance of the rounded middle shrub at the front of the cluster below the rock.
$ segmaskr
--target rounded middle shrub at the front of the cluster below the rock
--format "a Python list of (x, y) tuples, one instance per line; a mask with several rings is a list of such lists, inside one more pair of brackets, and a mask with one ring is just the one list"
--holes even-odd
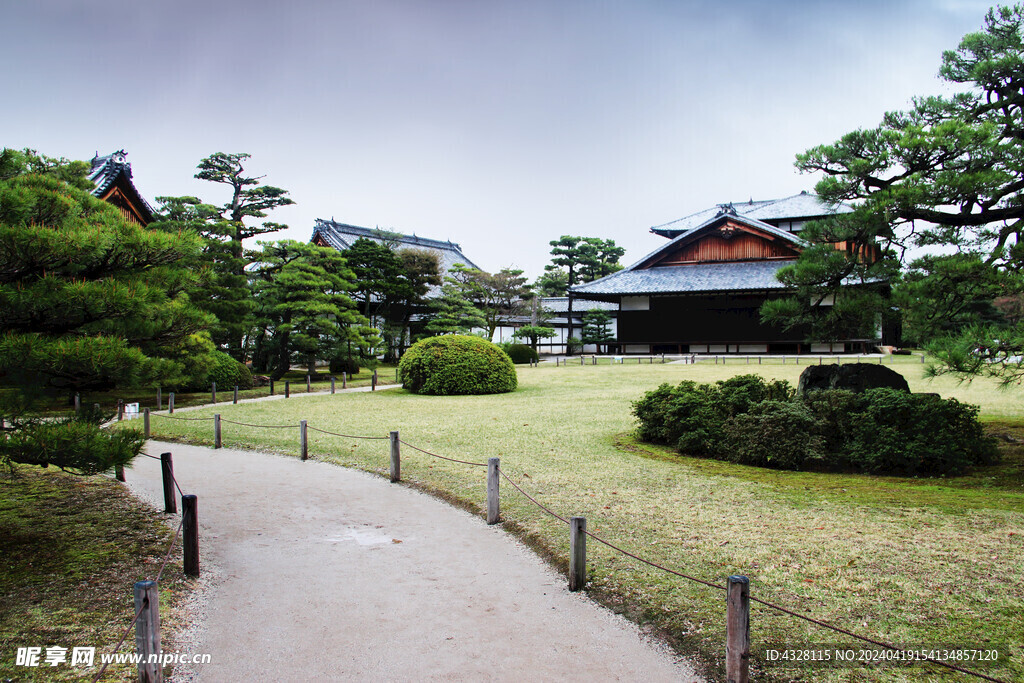
[(806, 469), (824, 457), (815, 420), (799, 401), (766, 400), (726, 421), (726, 457), (741, 465)]

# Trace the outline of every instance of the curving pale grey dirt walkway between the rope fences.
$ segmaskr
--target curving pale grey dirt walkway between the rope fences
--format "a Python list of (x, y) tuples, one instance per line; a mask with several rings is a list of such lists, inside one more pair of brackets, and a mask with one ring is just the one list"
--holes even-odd
[[(199, 497), (202, 681), (696, 681), (499, 527), (370, 474), (150, 441)], [(127, 473), (162, 501), (160, 463)], [(162, 509), (162, 503), (159, 504)], [(177, 673), (177, 671), (176, 671)]]

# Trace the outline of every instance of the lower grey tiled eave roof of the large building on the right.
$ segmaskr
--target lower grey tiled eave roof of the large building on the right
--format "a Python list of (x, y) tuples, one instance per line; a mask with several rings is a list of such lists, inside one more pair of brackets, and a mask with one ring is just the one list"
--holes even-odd
[(626, 269), (586, 285), (577, 285), (572, 292), (581, 296), (629, 296), (639, 294), (672, 294), (696, 292), (742, 292), (780, 290), (785, 286), (775, 273), (790, 259), (773, 261), (738, 261), (733, 263), (694, 263), (689, 265), (656, 266)]

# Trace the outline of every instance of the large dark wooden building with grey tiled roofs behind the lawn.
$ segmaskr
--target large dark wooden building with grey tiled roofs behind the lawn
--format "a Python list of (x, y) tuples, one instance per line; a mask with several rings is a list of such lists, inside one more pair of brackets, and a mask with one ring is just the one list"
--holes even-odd
[(809, 344), (807, 330), (782, 330), (760, 315), (766, 300), (791, 295), (775, 274), (807, 246), (800, 229), (849, 211), (807, 193), (719, 205), (651, 228), (669, 242), (624, 270), (573, 287), (571, 295), (618, 304), (618, 348), (626, 353), (866, 350), (881, 343), (881, 329), (874, 339)]

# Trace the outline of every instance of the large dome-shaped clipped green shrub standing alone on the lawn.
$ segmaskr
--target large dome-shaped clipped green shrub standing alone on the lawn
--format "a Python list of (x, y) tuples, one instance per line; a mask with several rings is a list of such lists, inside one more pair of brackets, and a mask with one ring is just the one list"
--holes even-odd
[(398, 364), (402, 386), (439, 396), (515, 391), (515, 366), (497, 344), (471, 335), (428, 337)]

